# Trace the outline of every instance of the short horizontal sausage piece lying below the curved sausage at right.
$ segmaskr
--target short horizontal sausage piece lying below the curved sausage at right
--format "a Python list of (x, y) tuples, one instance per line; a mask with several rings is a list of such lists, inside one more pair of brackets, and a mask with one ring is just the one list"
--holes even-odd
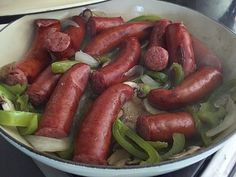
[(191, 137), (196, 131), (194, 119), (187, 112), (140, 116), (137, 119), (136, 130), (148, 141), (171, 141), (173, 133)]

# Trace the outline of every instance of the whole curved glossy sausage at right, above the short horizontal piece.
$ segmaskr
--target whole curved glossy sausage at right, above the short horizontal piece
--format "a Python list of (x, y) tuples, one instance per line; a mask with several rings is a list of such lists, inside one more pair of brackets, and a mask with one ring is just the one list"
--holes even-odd
[(203, 67), (189, 75), (180, 85), (172, 90), (154, 89), (147, 95), (148, 102), (163, 110), (171, 110), (195, 103), (222, 82), (222, 74), (215, 68)]

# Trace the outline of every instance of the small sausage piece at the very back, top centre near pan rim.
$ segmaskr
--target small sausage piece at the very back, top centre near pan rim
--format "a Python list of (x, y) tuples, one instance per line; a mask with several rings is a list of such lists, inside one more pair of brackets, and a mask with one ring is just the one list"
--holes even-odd
[(89, 18), (87, 28), (91, 36), (111, 27), (119, 26), (124, 23), (122, 17), (95, 17)]

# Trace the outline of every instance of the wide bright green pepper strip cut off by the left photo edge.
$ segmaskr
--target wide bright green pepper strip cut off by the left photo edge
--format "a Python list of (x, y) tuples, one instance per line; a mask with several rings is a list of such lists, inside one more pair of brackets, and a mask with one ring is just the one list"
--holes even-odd
[(26, 127), (21, 132), (32, 133), (38, 128), (38, 117), (37, 113), (0, 110), (0, 125)]

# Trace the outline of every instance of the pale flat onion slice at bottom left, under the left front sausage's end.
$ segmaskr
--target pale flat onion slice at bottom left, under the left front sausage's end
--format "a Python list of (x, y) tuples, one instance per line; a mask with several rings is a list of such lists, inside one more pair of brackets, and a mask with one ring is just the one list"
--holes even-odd
[(28, 135), (25, 139), (38, 151), (58, 152), (65, 151), (71, 146), (70, 138), (56, 139), (44, 136)]

